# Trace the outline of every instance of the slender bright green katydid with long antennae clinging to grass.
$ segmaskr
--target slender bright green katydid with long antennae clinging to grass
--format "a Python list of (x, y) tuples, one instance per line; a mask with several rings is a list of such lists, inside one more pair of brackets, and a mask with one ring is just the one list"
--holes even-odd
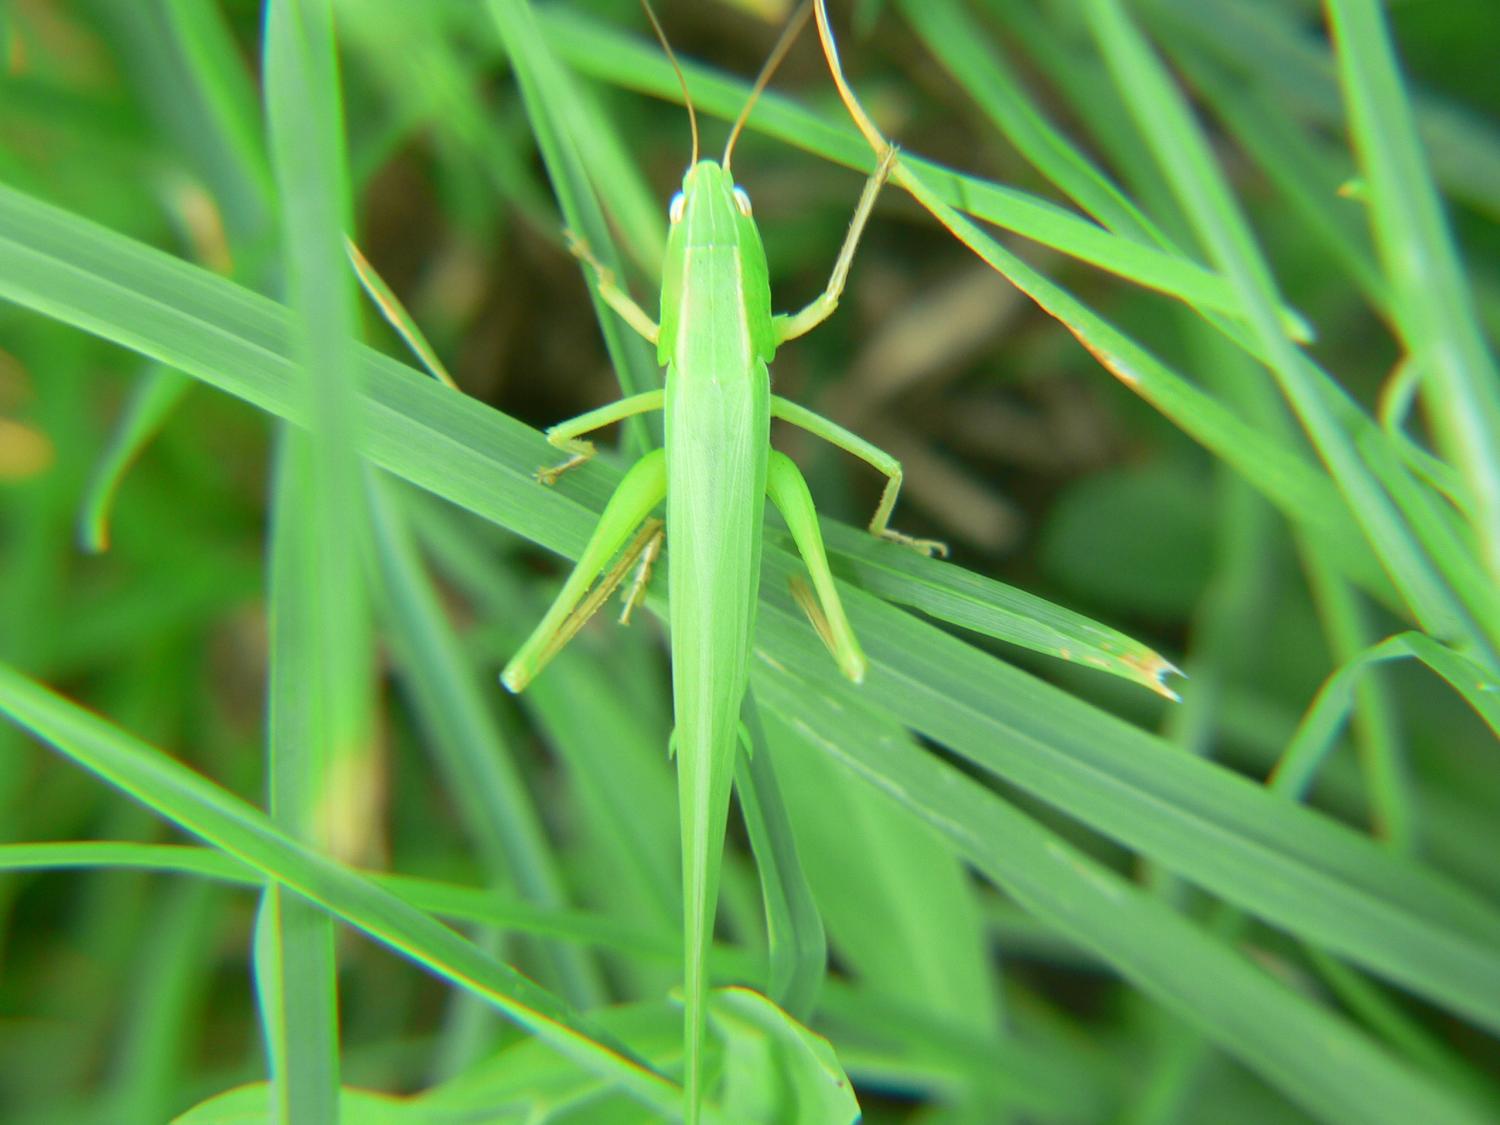
[[(642, 4), (670, 56), (656, 15), (645, 0)], [(548, 441), (572, 456), (561, 465), (540, 470), (537, 477), (543, 483), (555, 482), (561, 472), (594, 456), (596, 448), (582, 438), (584, 434), (645, 411), (663, 411), (666, 447), (646, 453), (621, 480), (552, 608), (501, 675), (506, 687), (520, 692), (640, 555), (640, 570), (627, 594), (628, 612), (644, 592), (650, 560), (660, 540), (652, 534), (654, 528), (646, 526), (628, 548), (626, 543), (664, 500), (664, 534), (670, 548), (672, 740), (682, 834), (686, 1100), (690, 1120), (698, 1119), (702, 1100), (706, 956), (740, 742), (740, 711), (748, 684), (766, 496), (782, 512), (816, 591), (814, 600), (806, 586), (794, 586), (798, 602), (843, 675), (858, 682), (866, 672), (864, 652), (828, 568), (812, 495), (796, 465), (771, 448), (771, 418), (807, 429), (885, 474), (885, 492), (870, 520), (874, 536), (924, 554), (944, 552), (939, 543), (890, 528), (891, 508), (902, 484), (902, 468), (894, 458), (771, 393), (766, 364), (776, 350), (816, 327), (837, 306), (860, 234), (894, 160), (891, 150), (866, 183), (825, 291), (801, 312), (772, 315), (765, 250), (752, 218), (750, 196), (735, 184), (729, 162), (756, 96), (806, 24), (808, 10), (810, 6), (804, 4), (762, 69), (729, 135), (722, 162), (699, 159), (698, 122), (687, 99), (686, 80), (682, 82), (693, 130), (693, 158), (682, 177), (682, 190), (669, 207), (660, 324), (636, 304), (585, 246), (573, 243), (574, 252), (594, 270), (604, 302), (657, 346), (657, 358), (666, 368), (666, 386), (548, 430)], [(606, 572), (622, 548), (620, 562)]]

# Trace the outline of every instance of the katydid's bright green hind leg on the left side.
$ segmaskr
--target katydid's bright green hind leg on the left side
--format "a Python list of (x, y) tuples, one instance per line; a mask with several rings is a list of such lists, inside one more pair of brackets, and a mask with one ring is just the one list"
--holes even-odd
[(520, 646), (506, 670), (501, 682), (512, 692), (520, 692), (556, 654), (560, 634), (576, 632), (573, 614), (585, 600), (594, 579), (604, 570), (630, 534), (651, 514), (651, 510), (666, 495), (666, 453), (654, 450), (638, 460), (609, 498), (588, 546), (567, 576), (562, 590), (548, 609), (542, 622)]

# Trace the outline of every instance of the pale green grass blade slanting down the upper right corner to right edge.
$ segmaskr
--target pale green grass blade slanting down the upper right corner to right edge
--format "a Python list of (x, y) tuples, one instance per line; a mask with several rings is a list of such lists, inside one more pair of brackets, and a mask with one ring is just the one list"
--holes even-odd
[(1384, 15), (1371, 0), (1329, 0), (1328, 15), (1396, 326), (1425, 375), (1438, 447), (1474, 496), (1474, 532), (1500, 585), (1500, 368), (1474, 316)]

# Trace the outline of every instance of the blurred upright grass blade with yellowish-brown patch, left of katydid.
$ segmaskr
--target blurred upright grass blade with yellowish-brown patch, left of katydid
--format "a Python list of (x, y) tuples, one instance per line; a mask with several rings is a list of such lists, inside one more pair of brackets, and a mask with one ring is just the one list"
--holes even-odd
[[(363, 582), (362, 411), (342, 248), (350, 194), (332, 0), (270, 0), (262, 69), (297, 390), (312, 423), (310, 430), (284, 428), (274, 488), (270, 814), (292, 838), (351, 862), (380, 836), (384, 764), (375, 753)], [(255, 978), (273, 1119), (338, 1122), (333, 920), (285, 886), (267, 886)]]

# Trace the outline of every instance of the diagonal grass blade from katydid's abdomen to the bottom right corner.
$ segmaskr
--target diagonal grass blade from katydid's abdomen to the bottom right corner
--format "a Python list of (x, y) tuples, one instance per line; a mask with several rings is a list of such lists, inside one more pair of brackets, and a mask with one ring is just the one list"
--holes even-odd
[(984, 786), (906, 738), (884, 736), (861, 705), (808, 699), (794, 670), (766, 663), (756, 669), (756, 686), (766, 706), (922, 816), (1030, 914), (1100, 954), (1306, 1110), (1330, 1120), (1480, 1120), (1442, 1086)]

